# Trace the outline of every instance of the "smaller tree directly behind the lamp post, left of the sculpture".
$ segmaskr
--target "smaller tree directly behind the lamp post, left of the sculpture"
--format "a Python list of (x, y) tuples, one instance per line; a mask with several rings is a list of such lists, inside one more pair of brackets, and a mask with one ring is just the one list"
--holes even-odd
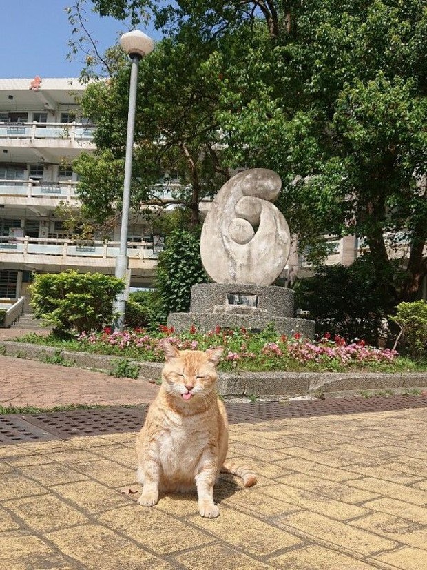
[[(220, 163), (220, 130), (215, 118), (218, 78), (211, 77), (202, 59), (190, 59), (188, 48), (172, 39), (158, 44), (140, 62), (136, 108), (132, 205), (175, 203), (191, 212), (198, 224), (198, 203), (227, 180)], [(97, 125), (94, 154), (74, 161), (79, 173), (79, 196), (87, 213), (107, 218), (120, 203), (129, 92), (129, 68), (107, 82), (87, 87), (81, 106)], [(175, 184), (161, 199), (174, 173)], [(176, 184), (178, 182), (178, 184)]]

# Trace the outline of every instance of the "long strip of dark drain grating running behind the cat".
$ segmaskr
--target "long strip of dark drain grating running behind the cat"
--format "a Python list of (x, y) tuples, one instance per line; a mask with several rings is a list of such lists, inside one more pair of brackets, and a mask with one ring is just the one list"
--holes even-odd
[[(229, 423), (250, 423), (328, 414), (359, 414), (427, 407), (424, 396), (375, 396), (329, 400), (226, 402)], [(68, 439), (139, 431), (148, 406), (77, 409), (45, 414), (0, 416), (0, 444)]]

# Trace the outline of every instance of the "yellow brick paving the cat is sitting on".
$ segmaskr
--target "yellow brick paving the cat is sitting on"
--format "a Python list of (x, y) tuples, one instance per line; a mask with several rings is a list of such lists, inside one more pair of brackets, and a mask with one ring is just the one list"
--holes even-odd
[(146, 509), (134, 434), (0, 446), (0, 552), (9, 570), (424, 570), (427, 409), (231, 427), (220, 517), (194, 496)]

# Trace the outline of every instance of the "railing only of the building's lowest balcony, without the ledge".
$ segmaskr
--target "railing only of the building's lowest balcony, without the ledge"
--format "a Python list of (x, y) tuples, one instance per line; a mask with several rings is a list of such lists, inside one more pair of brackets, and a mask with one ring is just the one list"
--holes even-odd
[[(37, 256), (61, 257), (61, 263), (79, 265), (79, 258), (91, 258), (98, 265), (112, 265), (118, 256), (118, 242), (75, 241), (71, 239), (0, 237), (0, 259), (8, 261), (8, 256), (20, 254), (23, 261), (37, 263)], [(162, 248), (152, 243), (129, 242), (127, 256), (129, 262), (156, 260)], [(32, 259), (30, 259), (32, 258)], [(114, 263), (113, 263), (114, 265)]]

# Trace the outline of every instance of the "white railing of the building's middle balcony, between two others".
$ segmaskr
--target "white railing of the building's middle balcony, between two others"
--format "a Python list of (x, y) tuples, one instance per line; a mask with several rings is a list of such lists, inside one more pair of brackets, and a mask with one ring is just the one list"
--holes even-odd
[(76, 182), (0, 179), (0, 196), (78, 200)]

